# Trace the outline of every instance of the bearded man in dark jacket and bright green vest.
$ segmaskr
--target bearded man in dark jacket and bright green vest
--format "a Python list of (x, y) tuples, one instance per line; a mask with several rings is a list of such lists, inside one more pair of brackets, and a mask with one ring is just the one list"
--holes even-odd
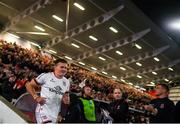
[(68, 122), (76, 123), (97, 123), (101, 122), (99, 116), (100, 108), (103, 108), (103, 104), (94, 101), (91, 97), (92, 88), (90, 85), (85, 85), (82, 89), (82, 96), (78, 98), (76, 104), (69, 111), (69, 115), (66, 117)]

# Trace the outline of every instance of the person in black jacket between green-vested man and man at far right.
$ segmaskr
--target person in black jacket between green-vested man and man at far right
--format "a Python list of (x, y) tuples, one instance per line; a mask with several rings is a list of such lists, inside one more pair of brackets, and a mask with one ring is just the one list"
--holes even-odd
[(116, 87), (113, 90), (113, 98), (110, 103), (110, 116), (114, 119), (114, 123), (127, 123), (129, 112), (127, 94), (122, 95), (120, 88)]

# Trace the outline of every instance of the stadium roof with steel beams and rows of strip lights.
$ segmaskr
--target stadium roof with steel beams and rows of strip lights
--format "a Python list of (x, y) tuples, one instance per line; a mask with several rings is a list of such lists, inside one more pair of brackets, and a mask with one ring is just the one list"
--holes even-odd
[(121, 82), (146, 86), (179, 79), (178, 43), (137, 1), (0, 0), (0, 24), (2, 33)]

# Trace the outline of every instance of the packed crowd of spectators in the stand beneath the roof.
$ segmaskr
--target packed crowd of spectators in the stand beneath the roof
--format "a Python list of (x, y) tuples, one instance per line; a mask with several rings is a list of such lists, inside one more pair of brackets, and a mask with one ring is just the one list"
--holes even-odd
[[(42, 55), (40, 51), (22, 48), (15, 43), (0, 41), (0, 94), (8, 101), (17, 99), (26, 92), (25, 83), (42, 72), (52, 69), (54, 58)], [(150, 100), (150, 96), (127, 84), (98, 75), (75, 64), (70, 64), (66, 77), (70, 80), (72, 92), (78, 93), (79, 86), (89, 80), (93, 86), (93, 97), (98, 100), (111, 101), (111, 92), (115, 85), (120, 85), (122, 92), (128, 93), (132, 106)], [(137, 104), (135, 104), (137, 103)]]

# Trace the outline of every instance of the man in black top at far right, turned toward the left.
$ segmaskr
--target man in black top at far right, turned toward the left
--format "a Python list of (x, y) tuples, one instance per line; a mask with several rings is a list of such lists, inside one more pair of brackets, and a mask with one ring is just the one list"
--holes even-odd
[(144, 108), (151, 112), (150, 122), (152, 123), (172, 123), (174, 114), (174, 103), (169, 96), (169, 87), (166, 84), (156, 86), (157, 98), (145, 105)]

